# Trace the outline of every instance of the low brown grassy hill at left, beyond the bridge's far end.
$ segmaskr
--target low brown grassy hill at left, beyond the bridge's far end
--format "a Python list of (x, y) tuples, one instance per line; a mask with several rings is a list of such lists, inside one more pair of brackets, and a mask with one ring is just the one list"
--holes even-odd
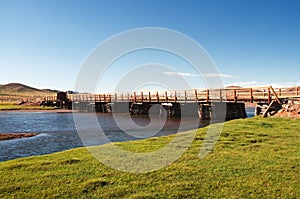
[(20, 83), (0, 85), (0, 100), (39, 100), (45, 95), (56, 94), (56, 90), (37, 89)]

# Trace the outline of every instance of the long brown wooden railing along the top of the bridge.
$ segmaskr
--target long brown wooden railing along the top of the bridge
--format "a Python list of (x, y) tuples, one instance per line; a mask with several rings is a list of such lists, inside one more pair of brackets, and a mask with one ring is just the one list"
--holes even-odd
[[(74, 102), (266, 102), (272, 100), (300, 97), (300, 87), (292, 88), (225, 88), (185, 91), (149, 91), (133, 93), (105, 94), (68, 94), (69, 101)], [(57, 97), (46, 96), (46, 101), (56, 101)]]

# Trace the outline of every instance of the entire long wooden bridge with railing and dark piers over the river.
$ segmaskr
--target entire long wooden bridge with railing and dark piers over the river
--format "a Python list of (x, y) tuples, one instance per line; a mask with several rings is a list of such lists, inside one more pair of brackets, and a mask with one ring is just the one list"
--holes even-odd
[[(102, 93), (102, 94), (66, 94), (46, 96), (45, 105), (64, 107), (82, 111), (99, 112), (130, 112), (132, 114), (149, 114), (154, 105), (160, 105), (163, 110), (157, 113), (166, 113), (169, 116), (180, 115), (183, 107), (190, 115), (199, 115), (201, 118), (210, 118), (212, 109), (220, 104), (227, 105), (228, 119), (246, 117), (245, 102), (260, 105), (281, 104), (287, 98), (300, 97), (300, 88), (223, 88), (207, 90), (183, 91), (149, 91), (132, 93)], [(153, 108), (151, 109), (152, 111)], [(155, 111), (154, 111), (155, 112)], [(266, 114), (266, 113), (264, 113)]]

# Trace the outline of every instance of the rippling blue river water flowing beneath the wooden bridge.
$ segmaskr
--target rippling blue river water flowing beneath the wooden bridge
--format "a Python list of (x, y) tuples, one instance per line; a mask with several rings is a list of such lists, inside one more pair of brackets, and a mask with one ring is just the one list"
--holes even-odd
[[(248, 117), (254, 114), (253, 109), (247, 110)], [(116, 124), (112, 114), (107, 113), (81, 113), (85, 121), (96, 117), (101, 130), (110, 141), (128, 141), (141, 139), (140, 136), (132, 136), (124, 133)], [(131, 116), (138, 126), (147, 126), (150, 123), (149, 116)], [(162, 136), (174, 134), (179, 131), (180, 118), (162, 118), (164, 125), (154, 135)], [(209, 121), (200, 121), (198, 127), (206, 126)], [(98, 129), (96, 124), (88, 124), (87, 131)], [(189, 123), (184, 124), (184, 129), (195, 128)], [(134, 129), (131, 129), (134, 131)], [(0, 141), (0, 161), (27, 157), (33, 155), (49, 154), (71, 148), (83, 146), (77, 133), (72, 113), (44, 113), (44, 112), (0, 112), (0, 133), (24, 133), (34, 132), (37, 136), (14, 140)], [(106, 140), (90, 140), (88, 145), (99, 145)], [(86, 143), (85, 143), (86, 145)]]

